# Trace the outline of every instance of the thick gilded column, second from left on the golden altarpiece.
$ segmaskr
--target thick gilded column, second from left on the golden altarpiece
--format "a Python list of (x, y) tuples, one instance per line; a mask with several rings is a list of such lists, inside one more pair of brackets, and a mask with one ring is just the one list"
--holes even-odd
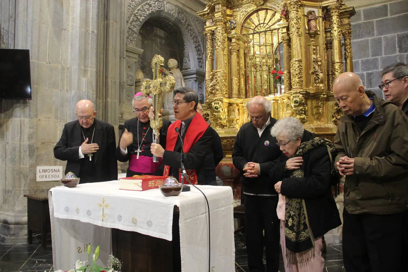
[(227, 82), (225, 71), (225, 50), (227, 44), (227, 35), (225, 32), (225, 23), (223, 18), (217, 20), (215, 29), (215, 97), (227, 97)]

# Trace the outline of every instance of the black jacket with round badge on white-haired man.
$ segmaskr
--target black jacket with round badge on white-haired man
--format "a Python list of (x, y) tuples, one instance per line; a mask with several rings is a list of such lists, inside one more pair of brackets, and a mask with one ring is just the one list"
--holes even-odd
[[(234, 166), (241, 172), (241, 182), (244, 192), (256, 195), (276, 195), (277, 192), (270, 186), (269, 171), (273, 162), (278, 159), (282, 152), (276, 145), (276, 138), (271, 135), (271, 128), (276, 119), (271, 117), (269, 124), (259, 137), (258, 130), (251, 122), (239, 129), (235, 138), (232, 161)], [(268, 141), (268, 142), (267, 142)], [(242, 170), (249, 161), (259, 163), (261, 175), (257, 178), (244, 177)]]

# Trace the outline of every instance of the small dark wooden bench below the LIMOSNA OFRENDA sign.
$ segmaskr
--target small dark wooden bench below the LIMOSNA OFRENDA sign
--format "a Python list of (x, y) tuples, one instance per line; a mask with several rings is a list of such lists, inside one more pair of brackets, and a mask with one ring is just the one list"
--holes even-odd
[(40, 232), (41, 245), (45, 250), (47, 233), (51, 232), (48, 193), (26, 194), (24, 197), (27, 197), (28, 243), (33, 243), (33, 232)]

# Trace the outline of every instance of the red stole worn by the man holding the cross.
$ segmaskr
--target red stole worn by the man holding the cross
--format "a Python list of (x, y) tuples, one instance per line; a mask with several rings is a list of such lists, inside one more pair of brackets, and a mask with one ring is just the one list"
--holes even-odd
[[(169, 126), (167, 130), (167, 137), (166, 137), (166, 150), (174, 151), (174, 147), (177, 142), (178, 133), (175, 131), (175, 128), (181, 127), (181, 121), (176, 120), (173, 124)], [(199, 114), (196, 113), (193, 119), (188, 125), (188, 128), (184, 135), (183, 140), (183, 153), (186, 154), (190, 151), (190, 148), (201, 138), (204, 134), (206, 129), (208, 128), (208, 123), (204, 120), (204, 118)], [(163, 176), (169, 176), (170, 166), (165, 165), (163, 170)], [(186, 169), (188, 180), (191, 181), (192, 184), (197, 185), (197, 172), (195, 169)], [(181, 173), (179, 168), (179, 181), (181, 181)], [(185, 181), (188, 184), (187, 181)]]

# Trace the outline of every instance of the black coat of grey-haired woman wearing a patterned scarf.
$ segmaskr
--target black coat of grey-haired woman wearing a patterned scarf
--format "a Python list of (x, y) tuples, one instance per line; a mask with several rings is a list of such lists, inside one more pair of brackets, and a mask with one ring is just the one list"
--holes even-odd
[[(313, 134), (304, 132), (302, 142), (313, 139)], [(330, 157), (326, 146), (318, 146), (303, 155), (304, 178), (290, 177), (285, 171), (288, 157), (280, 157), (280, 163), (271, 170), (271, 186), (282, 181), (281, 193), (287, 197), (303, 198), (313, 237), (320, 237), (341, 225), (339, 210), (330, 184)]]

